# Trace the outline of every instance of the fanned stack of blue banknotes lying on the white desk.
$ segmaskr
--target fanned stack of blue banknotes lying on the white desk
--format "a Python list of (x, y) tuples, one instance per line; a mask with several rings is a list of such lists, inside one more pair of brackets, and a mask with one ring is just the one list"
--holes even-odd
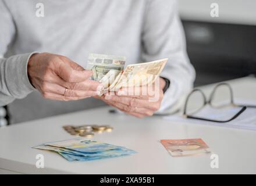
[(86, 138), (48, 142), (33, 148), (54, 151), (69, 161), (88, 161), (104, 158), (114, 158), (136, 153), (123, 146), (105, 144)]

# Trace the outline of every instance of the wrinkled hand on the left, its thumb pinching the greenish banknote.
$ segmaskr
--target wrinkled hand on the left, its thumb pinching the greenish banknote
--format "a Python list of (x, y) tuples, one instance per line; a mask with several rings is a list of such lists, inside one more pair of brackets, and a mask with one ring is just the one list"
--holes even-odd
[(69, 58), (51, 53), (36, 53), (27, 66), (31, 84), (47, 99), (70, 101), (97, 95), (97, 81), (89, 80), (93, 71)]

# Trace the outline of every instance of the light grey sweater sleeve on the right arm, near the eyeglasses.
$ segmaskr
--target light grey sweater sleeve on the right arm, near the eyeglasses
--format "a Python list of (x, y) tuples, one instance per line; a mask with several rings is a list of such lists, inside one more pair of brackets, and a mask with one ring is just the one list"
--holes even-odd
[(170, 80), (170, 87), (157, 113), (173, 113), (183, 106), (195, 77), (194, 68), (187, 57), (176, 0), (148, 1), (142, 38), (144, 61), (169, 58), (160, 76)]

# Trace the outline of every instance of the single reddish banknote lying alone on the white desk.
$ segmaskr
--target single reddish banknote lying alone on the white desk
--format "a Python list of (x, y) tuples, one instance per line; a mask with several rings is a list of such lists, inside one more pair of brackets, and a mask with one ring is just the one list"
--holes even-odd
[(202, 139), (161, 140), (161, 144), (172, 156), (211, 153), (209, 146)]

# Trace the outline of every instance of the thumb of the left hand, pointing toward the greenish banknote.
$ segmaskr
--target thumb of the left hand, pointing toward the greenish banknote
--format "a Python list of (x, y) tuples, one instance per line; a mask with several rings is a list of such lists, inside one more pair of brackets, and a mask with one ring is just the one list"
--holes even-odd
[(74, 70), (70, 65), (63, 62), (61, 62), (58, 69), (55, 70), (55, 73), (69, 83), (86, 81), (93, 75), (93, 71), (91, 70)]

